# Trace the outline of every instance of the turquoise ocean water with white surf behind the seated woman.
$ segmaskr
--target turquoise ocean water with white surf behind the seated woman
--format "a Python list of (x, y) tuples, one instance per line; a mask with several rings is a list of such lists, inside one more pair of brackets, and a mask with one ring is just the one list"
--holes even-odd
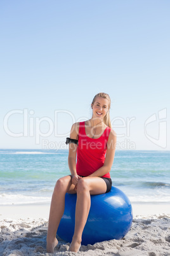
[[(0, 205), (49, 203), (68, 150), (0, 150)], [(131, 203), (170, 203), (170, 151), (117, 150), (113, 185)]]

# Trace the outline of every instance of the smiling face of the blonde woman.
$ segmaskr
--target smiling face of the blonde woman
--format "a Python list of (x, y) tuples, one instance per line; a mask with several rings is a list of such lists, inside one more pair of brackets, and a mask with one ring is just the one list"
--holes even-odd
[(95, 103), (92, 105), (93, 118), (103, 119), (108, 111), (108, 99), (96, 97)]

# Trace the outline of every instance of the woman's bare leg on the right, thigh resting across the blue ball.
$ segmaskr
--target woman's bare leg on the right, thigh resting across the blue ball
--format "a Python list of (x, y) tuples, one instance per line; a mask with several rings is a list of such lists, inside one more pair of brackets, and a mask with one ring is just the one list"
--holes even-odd
[(105, 181), (98, 177), (81, 178), (77, 183), (77, 202), (75, 207), (75, 229), (70, 252), (78, 252), (81, 246), (82, 231), (86, 225), (91, 205), (90, 195), (104, 194), (107, 190)]

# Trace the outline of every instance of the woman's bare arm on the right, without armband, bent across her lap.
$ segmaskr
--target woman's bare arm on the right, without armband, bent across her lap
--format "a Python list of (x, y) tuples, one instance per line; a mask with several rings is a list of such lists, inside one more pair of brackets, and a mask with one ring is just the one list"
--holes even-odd
[(107, 153), (105, 157), (105, 162), (102, 167), (100, 167), (94, 173), (90, 174), (89, 177), (102, 177), (103, 175), (110, 172), (112, 164), (114, 162), (116, 141), (116, 133), (114, 130), (111, 130), (107, 141)]

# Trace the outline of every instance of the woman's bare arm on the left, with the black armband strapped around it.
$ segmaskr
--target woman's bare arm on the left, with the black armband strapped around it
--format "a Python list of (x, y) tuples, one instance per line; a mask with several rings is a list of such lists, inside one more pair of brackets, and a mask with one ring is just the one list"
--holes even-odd
[[(79, 134), (79, 123), (75, 123), (72, 125), (72, 129), (70, 131), (70, 139), (77, 139)], [(77, 154), (77, 144), (70, 143), (69, 144), (69, 157), (68, 157), (68, 164), (70, 173), (72, 174), (72, 183), (77, 185), (79, 180), (79, 175), (77, 175), (76, 171), (76, 154)]]

